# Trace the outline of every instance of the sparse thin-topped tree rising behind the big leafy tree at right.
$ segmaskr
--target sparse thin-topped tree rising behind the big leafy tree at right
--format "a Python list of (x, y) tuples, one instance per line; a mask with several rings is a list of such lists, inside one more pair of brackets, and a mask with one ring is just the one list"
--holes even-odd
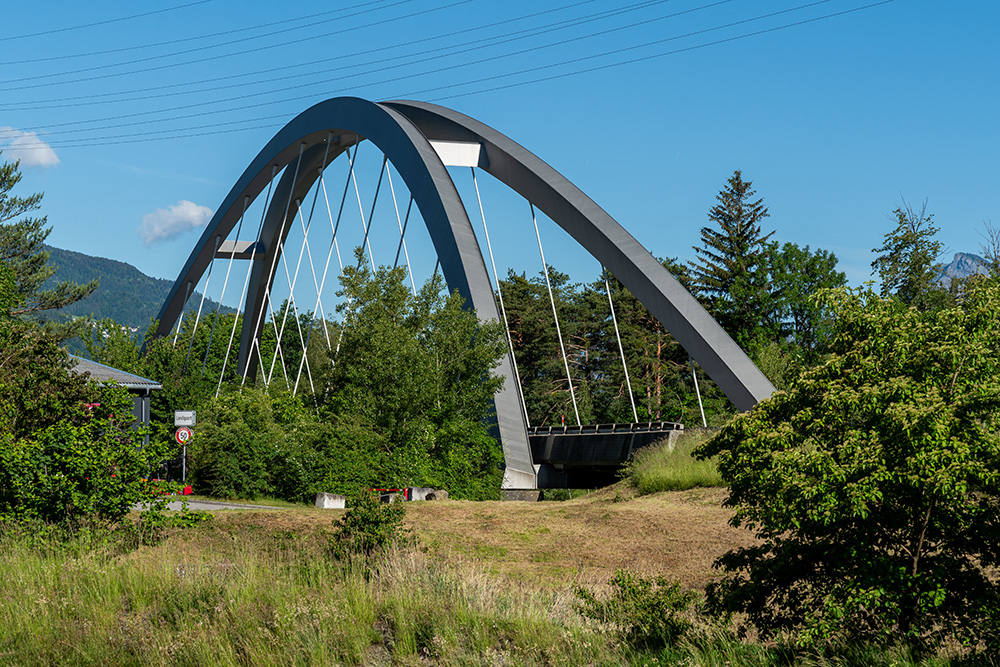
[(948, 304), (948, 290), (937, 284), (937, 264), (943, 245), (934, 236), (940, 230), (927, 202), (914, 210), (905, 201), (892, 212), (896, 226), (886, 232), (880, 253), (872, 262), (872, 272), (882, 282), (882, 296), (895, 296), (921, 309)]

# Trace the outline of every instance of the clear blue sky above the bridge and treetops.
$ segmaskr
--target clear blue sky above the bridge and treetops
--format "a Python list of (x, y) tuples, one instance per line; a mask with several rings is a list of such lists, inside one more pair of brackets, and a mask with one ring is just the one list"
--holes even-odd
[[(832, 250), (854, 284), (903, 199), (927, 201), (948, 252), (1000, 222), (1000, 5), (984, 0), (8, 4), (0, 149), (22, 158), (19, 193), (45, 192), (51, 244), (158, 277), (287, 120), (341, 95), (492, 125), (658, 256), (693, 257), (734, 169), (776, 239)], [(537, 271), (527, 206), (480, 183), (498, 263)], [(596, 277), (542, 222), (549, 262)]]

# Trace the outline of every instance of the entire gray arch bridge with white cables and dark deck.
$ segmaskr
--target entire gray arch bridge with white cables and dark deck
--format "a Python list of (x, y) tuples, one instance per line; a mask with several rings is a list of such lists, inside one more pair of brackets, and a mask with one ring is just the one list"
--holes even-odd
[[(270, 300), (272, 286), (282, 273), (279, 266), (284, 267), (284, 275), (291, 280), (288, 258), (282, 256), (289, 233), (299, 224), (303, 232), (308, 233), (308, 225), (304, 222), (307, 194), (311, 190), (316, 193), (312, 209), (306, 211), (311, 221), (316, 207), (315, 197), (318, 196), (315, 186), (317, 183), (323, 185), (324, 171), (343, 155), (340, 159), (349, 163), (353, 177), (357, 146), (363, 141), (373, 144), (381, 152), (383, 172), (388, 164), (402, 178), (411, 196), (411, 206), (416, 206), (426, 225), (448, 289), (457, 290), (480, 319), (502, 320), (502, 294), (498, 304), (498, 293), (491, 282), (483, 250), (449, 167), (470, 167), (473, 176), (477, 171), (489, 174), (565, 230), (652, 313), (737, 409), (747, 410), (774, 391), (743, 350), (660, 262), (562, 174), (484, 123), (452, 109), (415, 101), (375, 103), (353, 97), (334, 98), (314, 105), (285, 125), (250, 162), (216, 210), (160, 310), (156, 334), (168, 336), (175, 326), (179, 326), (186, 303), (195, 288), (206, 275), (211, 278), (211, 267), (216, 258), (228, 261), (227, 282), (234, 260), (246, 261), (249, 268), (239, 306), (243, 326), (238, 343), (238, 371), (245, 378), (253, 379), (258, 366), (265, 366), (259, 358), (264, 331), (262, 322), (268, 312), (274, 312)], [(379, 187), (381, 184), (382, 173)], [(389, 185), (393, 189), (395, 205), (391, 173)], [(323, 187), (326, 198), (325, 185)], [(356, 188), (355, 182), (355, 191)], [(478, 184), (476, 191), (478, 195)], [(376, 197), (377, 192), (376, 189)], [(346, 187), (344, 193), (346, 199)], [(240, 240), (246, 211), (262, 194), (265, 197), (260, 228), (255, 237)], [(361, 208), (360, 194), (358, 205)], [(341, 202), (341, 211), (343, 208)], [(406, 226), (399, 209), (397, 205), (400, 247), (405, 249), (403, 234)], [(327, 210), (336, 242), (337, 225), (333, 223), (329, 205)], [(363, 225), (364, 216), (362, 210)], [(407, 208), (406, 219), (409, 218)], [(338, 223), (339, 220), (338, 214)], [(369, 215), (367, 225), (370, 226), (370, 222)], [(483, 224), (485, 226), (485, 215)], [(234, 229), (237, 230), (236, 238), (230, 238)], [(368, 230), (366, 226), (365, 243), (369, 240)], [(308, 244), (304, 242), (303, 245), (303, 250), (308, 250)], [(492, 264), (492, 250), (488, 250)], [(544, 262), (544, 252), (542, 255)], [(372, 263), (374, 265), (374, 259)], [(301, 264), (300, 250), (299, 266)], [(313, 264), (311, 252), (309, 264)], [(493, 271), (494, 278), (499, 281), (495, 266)], [(325, 274), (317, 276), (314, 271), (313, 282), (317, 303), (320, 303)], [(200, 314), (199, 306), (199, 317)], [(587, 427), (581, 426), (577, 433), (569, 432), (572, 428), (563, 433), (551, 430), (539, 433), (536, 429), (529, 435), (521, 387), (516, 381), (516, 360), (512, 354), (501, 361), (498, 372), (506, 379), (503, 389), (495, 397), (495, 404), (496, 427), (506, 463), (504, 486), (508, 489), (534, 489), (540, 483), (550, 483), (544, 475), (545, 467), (567, 463), (563, 460), (566, 458), (565, 451), (558, 453), (560, 447), (556, 436), (577, 439), (589, 435), (603, 437), (611, 444), (603, 450), (597, 447), (604, 454), (596, 450), (589, 454), (596, 461), (612, 450), (612, 454), (619, 458), (627, 455), (626, 450), (630, 451), (636, 443), (643, 442), (642, 433), (647, 434), (647, 439), (651, 433), (662, 437), (664, 432), (675, 426), (665, 423), (641, 428), (636, 425), (627, 428), (613, 426), (610, 433), (606, 427), (603, 431), (596, 426), (587, 431)], [(572, 381), (569, 386), (572, 390)], [(614, 454), (615, 451), (618, 454)], [(546, 456), (549, 458), (546, 459)], [(539, 474), (540, 469), (542, 475)]]

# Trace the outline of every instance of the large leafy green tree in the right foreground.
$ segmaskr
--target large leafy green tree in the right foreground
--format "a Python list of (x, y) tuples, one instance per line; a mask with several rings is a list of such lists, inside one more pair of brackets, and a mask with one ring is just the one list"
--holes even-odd
[(921, 311), (830, 291), (830, 358), (735, 417), (718, 457), (734, 525), (717, 609), (803, 645), (952, 638), (997, 649), (1000, 287)]

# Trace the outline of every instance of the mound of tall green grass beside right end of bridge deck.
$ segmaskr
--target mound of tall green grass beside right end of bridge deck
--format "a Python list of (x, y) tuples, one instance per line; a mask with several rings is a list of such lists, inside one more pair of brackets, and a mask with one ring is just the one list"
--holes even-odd
[(711, 437), (711, 431), (686, 431), (673, 447), (668, 440), (640, 449), (622, 471), (623, 479), (641, 495), (682, 491), (701, 486), (722, 486), (713, 461), (699, 461), (693, 452)]

